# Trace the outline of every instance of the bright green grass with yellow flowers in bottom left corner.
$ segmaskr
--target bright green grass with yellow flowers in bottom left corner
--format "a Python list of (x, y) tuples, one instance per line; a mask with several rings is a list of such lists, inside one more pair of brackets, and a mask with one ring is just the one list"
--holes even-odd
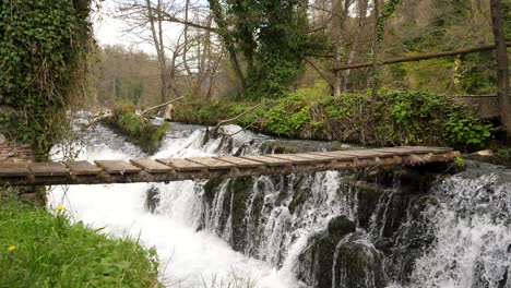
[(0, 197), (0, 287), (161, 287), (154, 249)]

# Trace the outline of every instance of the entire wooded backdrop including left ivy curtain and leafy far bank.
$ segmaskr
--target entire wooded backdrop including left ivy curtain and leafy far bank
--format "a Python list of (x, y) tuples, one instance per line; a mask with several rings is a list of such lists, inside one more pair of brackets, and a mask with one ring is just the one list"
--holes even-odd
[[(99, 46), (90, 13), (100, 1), (2, 3), (0, 128), (38, 159), (72, 135), (66, 111), (115, 108), (110, 123), (136, 136), (147, 121), (135, 109), (176, 98), (177, 121), (234, 119), (274, 135), (361, 144), (477, 148), (511, 127), (509, 1), (109, 3), (153, 52)], [(477, 51), (383, 64), (467, 48)], [(368, 64), (348, 69), (358, 63)], [(501, 117), (491, 123), (445, 96), (496, 94)]]

